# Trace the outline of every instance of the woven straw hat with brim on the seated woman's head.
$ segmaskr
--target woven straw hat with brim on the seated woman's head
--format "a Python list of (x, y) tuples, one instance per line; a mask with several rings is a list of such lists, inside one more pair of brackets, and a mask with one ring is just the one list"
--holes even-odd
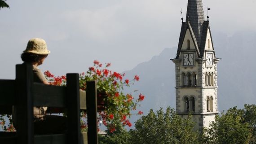
[(47, 45), (44, 39), (40, 38), (33, 38), (30, 39), (27, 43), (26, 50), (23, 51), (24, 53), (35, 53), (40, 55), (47, 55), (50, 53), (47, 50)]

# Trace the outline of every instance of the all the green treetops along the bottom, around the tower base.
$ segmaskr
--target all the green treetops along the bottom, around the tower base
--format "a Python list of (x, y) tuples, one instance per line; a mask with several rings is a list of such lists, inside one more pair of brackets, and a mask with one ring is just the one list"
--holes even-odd
[(191, 115), (181, 118), (174, 109), (159, 109), (141, 116), (135, 129), (120, 126), (114, 133), (100, 136), (99, 144), (256, 144), (256, 105), (230, 108), (216, 115), (202, 135), (194, 131)]

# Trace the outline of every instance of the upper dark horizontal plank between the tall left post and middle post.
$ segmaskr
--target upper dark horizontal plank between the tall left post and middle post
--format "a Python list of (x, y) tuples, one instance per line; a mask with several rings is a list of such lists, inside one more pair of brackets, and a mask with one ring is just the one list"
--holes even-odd
[(34, 106), (66, 107), (66, 87), (33, 84)]

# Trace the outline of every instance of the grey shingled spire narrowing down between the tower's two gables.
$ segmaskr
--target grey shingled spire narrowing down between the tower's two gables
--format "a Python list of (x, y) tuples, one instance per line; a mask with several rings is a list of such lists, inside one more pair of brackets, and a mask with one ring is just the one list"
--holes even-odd
[(188, 0), (186, 22), (190, 21), (194, 35), (200, 44), (201, 28), (204, 22), (202, 0)]

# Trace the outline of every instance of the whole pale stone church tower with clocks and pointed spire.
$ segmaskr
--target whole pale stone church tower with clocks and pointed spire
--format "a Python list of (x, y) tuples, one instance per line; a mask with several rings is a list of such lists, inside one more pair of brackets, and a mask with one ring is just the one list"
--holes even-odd
[[(207, 16), (207, 19), (209, 17)], [(189, 113), (202, 131), (214, 121), (217, 109), (217, 63), (209, 21), (205, 21), (202, 0), (188, 0), (186, 21), (175, 63), (176, 111), (183, 118)]]

